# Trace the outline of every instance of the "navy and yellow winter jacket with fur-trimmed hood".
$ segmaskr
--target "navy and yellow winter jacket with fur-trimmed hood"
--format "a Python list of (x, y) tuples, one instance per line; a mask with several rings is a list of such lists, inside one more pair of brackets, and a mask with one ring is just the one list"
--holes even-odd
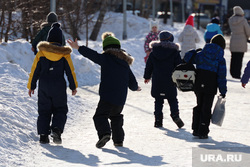
[(39, 79), (39, 90), (51, 96), (63, 94), (66, 91), (64, 78), (66, 73), (69, 88), (75, 90), (78, 83), (70, 56), (72, 49), (68, 46), (56, 46), (46, 41), (40, 42), (38, 49), (39, 52), (34, 59), (27, 88), (34, 90)]

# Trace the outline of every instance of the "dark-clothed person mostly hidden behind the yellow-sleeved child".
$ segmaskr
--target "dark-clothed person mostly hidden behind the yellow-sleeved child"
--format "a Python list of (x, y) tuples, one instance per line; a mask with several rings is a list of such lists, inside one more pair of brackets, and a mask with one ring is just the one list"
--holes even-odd
[[(48, 36), (49, 30), (51, 28), (51, 25), (53, 23), (56, 23), (56, 22), (57, 22), (57, 14), (54, 13), (54, 12), (50, 12), (47, 15), (46, 22), (41, 24), (41, 30), (37, 33), (37, 35), (35, 36), (35, 39), (32, 41), (31, 50), (34, 52), (35, 55), (37, 54), (37, 48), (36, 48), (37, 44), (40, 41), (46, 41), (47, 40), (47, 36)], [(64, 35), (62, 35), (62, 38), (63, 38), (62, 39), (62, 45), (64, 46), (65, 45)]]

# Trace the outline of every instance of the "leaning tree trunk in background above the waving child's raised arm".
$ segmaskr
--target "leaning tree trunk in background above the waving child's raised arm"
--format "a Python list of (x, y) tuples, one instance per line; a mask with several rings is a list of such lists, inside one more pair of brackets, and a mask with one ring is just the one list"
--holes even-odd
[(106, 8), (107, 8), (107, 1), (103, 0), (102, 3), (101, 3), (101, 9), (100, 9), (98, 19), (97, 19), (97, 21), (95, 23), (94, 29), (93, 29), (93, 31), (92, 31), (92, 33), (90, 35), (90, 38), (89, 38), (89, 39), (91, 39), (93, 41), (96, 41), (97, 36), (99, 34), (99, 31), (101, 29), (103, 19), (104, 19), (105, 13), (106, 13)]

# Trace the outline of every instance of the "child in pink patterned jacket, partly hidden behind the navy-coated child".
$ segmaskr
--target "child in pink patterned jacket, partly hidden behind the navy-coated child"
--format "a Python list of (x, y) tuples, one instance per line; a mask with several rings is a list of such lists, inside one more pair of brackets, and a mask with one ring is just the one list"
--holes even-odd
[(144, 57), (145, 63), (147, 62), (148, 56), (151, 52), (151, 48), (149, 47), (149, 43), (151, 41), (157, 41), (158, 40), (158, 35), (160, 31), (158, 30), (158, 23), (156, 21), (151, 21), (150, 22), (150, 29), (151, 31), (148, 33), (146, 36), (146, 40), (144, 43), (144, 51), (146, 53), (146, 56)]

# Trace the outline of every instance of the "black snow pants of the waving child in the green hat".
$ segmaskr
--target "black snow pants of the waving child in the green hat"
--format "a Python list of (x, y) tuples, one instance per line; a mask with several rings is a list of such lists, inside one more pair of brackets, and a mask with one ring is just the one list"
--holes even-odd
[(99, 139), (105, 134), (112, 133), (114, 143), (123, 142), (125, 134), (122, 110), (123, 106), (114, 105), (103, 100), (99, 101), (93, 117)]

